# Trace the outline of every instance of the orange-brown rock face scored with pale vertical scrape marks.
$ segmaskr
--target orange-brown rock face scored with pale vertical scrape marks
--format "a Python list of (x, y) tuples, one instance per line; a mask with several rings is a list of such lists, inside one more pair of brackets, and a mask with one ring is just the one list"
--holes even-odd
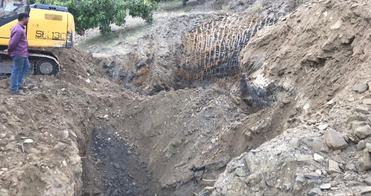
[(276, 20), (273, 14), (233, 14), (203, 21), (183, 38), (178, 61), (185, 76), (196, 81), (212, 80), (240, 72), (237, 57), (242, 48), (259, 30)]

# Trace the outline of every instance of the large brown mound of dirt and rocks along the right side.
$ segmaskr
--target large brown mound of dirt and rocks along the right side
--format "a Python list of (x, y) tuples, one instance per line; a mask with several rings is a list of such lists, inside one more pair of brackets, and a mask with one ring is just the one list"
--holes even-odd
[[(243, 98), (290, 108), (278, 117), (285, 131), (233, 159), (200, 194), (370, 192), (369, 7), (370, 1), (331, 0), (303, 6), (252, 39), (239, 57)], [(255, 137), (274, 135), (273, 124), (246, 120), (237, 130), (247, 141), (261, 141)]]

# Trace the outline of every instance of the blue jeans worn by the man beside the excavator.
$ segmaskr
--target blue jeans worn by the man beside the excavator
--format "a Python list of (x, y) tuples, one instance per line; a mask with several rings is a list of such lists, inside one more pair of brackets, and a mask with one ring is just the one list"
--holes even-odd
[(22, 80), (30, 68), (27, 57), (13, 56), (13, 70), (10, 76), (10, 91), (17, 91), (18, 86), (22, 85)]

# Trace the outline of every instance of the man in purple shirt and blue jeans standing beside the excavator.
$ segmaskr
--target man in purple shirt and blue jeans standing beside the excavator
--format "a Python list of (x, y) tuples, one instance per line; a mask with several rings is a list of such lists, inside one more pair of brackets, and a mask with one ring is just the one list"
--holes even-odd
[(30, 15), (27, 13), (20, 13), (18, 16), (18, 23), (10, 29), (10, 38), (8, 49), (5, 54), (13, 58), (12, 76), (10, 76), (10, 94), (24, 95), (19, 91), (24, 89), (22, 81), (24, 75), (30, 68), (28, 61), (28, 42), (24, 26), (27, 25)]

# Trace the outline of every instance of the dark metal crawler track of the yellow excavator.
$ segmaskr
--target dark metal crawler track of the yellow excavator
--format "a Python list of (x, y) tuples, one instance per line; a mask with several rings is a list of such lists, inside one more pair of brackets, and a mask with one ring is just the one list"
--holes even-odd
[[(30, 50), (29, 51), (30, 69), (27, 74), (33, 75), (58, 75), (58, 57), (50, 52)], [(0, 53), (0, 77), (7, 77), (12, 73), (13, 60), (10, 56)]]

